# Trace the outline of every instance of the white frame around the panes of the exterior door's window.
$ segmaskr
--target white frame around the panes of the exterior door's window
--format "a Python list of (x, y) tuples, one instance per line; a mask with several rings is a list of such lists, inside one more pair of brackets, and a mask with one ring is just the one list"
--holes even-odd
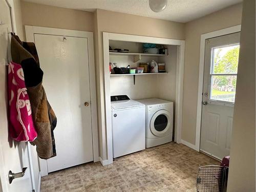
[[(208, 83), (208, 102), (209, 103), (214, 103), (214, 104), (218, 104), (218, 105), (227, 105), (227, 106), (234, 106), (234, 102), (231, 101), (222, 101), (222, 100), (217, 100), (217, 99), (211, 99), (211, 82), (212, 82), (212, 76), (236, 76), (237, 77), (237, 73), (214, 73), (214, 49), (218, 49), (218, 48), (225, 48), (225, 47), (231, 47), (231, 46), (239, 46), (240, 48), (240, 42), (236, 43), (236, 44), (227, 44), (227, 45), (223, 45), (223, 46), (216, 46), (216, 47), (212, 47), (211, 48), (211, 56), (210, 56), (210, 71), (209, 71), (209, 83)], [(236, 94), (235, 94), (235, 98), (236, 100)]]

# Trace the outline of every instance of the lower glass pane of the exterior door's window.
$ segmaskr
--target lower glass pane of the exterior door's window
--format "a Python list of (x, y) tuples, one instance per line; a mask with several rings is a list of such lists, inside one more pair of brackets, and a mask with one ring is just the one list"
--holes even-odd
[(212, 75), (210, 84), (210, 99), (234, 102), (236, 84), (236, 75)]

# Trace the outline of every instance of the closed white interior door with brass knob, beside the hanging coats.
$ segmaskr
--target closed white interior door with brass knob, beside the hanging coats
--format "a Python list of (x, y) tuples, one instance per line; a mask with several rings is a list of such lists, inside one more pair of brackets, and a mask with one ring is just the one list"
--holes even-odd
[(35, 34), (34, 40), (57, 116), (57, 156), (47, 160), (48, 172), (93, 161), (87, 38)]

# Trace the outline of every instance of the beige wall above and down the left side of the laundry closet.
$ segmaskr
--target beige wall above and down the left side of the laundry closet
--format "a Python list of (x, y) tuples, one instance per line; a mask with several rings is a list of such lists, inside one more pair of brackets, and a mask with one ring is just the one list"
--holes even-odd
[[(102, 51), (102, 32), (123, 33), (133, 35), (144, 35), (152, 37), (184, 39), (184, 24), (168, 22), (166, 20), (142, 17), (126, 13), (118, 13), (106, 10), (96, 10), (98, 45), (96, 46), (96, 77), (97, 77), (97, 94), (98, 94), (98, 119), (99, 119), (99, 143), (100, 156), (107, 159), (105, 137), (105, 108), (104, 108), (104, 76), (103, 76), (103, 51)], [(102, 148), (103, 149), (102, 149)]]

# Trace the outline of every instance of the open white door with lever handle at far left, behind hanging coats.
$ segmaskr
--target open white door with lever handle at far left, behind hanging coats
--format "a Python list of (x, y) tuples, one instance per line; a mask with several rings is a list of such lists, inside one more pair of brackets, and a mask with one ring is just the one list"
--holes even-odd
[[(29, 161), (28, 143), (16, 142), (8, 134), (8, 97), (7, 97), (7, 60), (11, 60), (10, 40), (12, 21), (10, 7), (5, 0), (0, 0), (0, 191), (32, 191), (32, 175)], [(22, 172), (25, 175), (9, 184), (8, 173)]]

